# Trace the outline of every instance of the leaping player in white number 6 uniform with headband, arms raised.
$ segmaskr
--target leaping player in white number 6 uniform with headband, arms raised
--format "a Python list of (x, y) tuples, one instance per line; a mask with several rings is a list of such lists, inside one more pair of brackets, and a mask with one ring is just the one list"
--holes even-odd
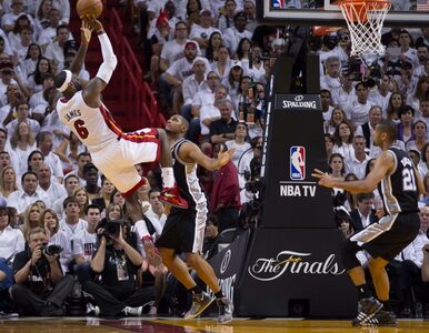
[[(92, 31), (96, 31), (101, 46), (103, 62), (98, 73), (89, 82), (79, 81)], [(99, 20), (82, 18), (81, 44), (70, 65), (54, 79), (62, 93), (57, 102), (61, 121), (87, 145), (96, 167), (124, 195), (131, 195), (144, 180), (134, 165), (160, 160), (164, 190), (160, 200), (178, 208), (188, 208), (174, 185), (171, 157), (166, 132), (159, 129), (142, 129), (123, 133), (101, 102), (101, 92), (110, 81), (117, 65), (110, 40)]]

